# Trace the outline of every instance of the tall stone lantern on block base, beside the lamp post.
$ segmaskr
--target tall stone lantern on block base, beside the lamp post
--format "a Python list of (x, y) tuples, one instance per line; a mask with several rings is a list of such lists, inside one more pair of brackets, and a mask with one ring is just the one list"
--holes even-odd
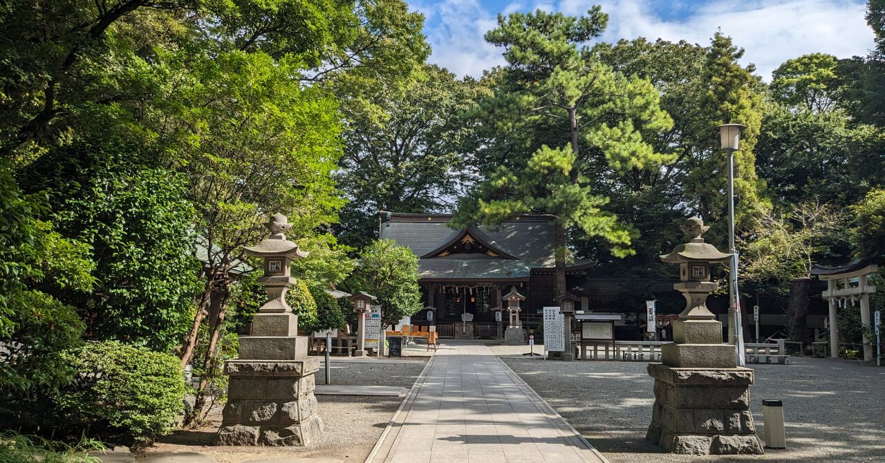
[(731, 254), (704, 243), (709, 227), (693, 217), (681, 227), (689, 243), (660, 259), (680, 265), (673, 289), (687, 305), (673, 321), (673, 343), (661, 345), (663, 363), (649, 364), (655, 378), (655, 405), (646, 439), (673, 453), (761, 454), (750, 413), (753, 370), (737, 367), (735, 346), (722, 343), (722, 324), (706, 306), (718, 284), (710, 281), (713, 264)]

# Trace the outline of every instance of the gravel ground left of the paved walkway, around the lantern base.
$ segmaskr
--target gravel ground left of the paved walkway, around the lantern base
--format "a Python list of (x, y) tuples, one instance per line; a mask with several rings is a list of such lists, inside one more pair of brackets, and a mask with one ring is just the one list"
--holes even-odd
[[(424, 368), (420, 363), (362, 361), (332, 363), (332, 383), (344, 385), (412, 386)], [(317, 383), (323, 382), (323, 371)], [(219, 463), (241, 463), (259, 459), (340, 459), (364, 461), (402, 397), (317, 396), (319, 416), (325, 432), (318, 442), (303, 448), (215, 447), (212, 438), (221, 424), (222, 405), (212, 407), (204, 427), (181, 430), (166, 436), (149, 449), (149, 456), (196, 452)]]

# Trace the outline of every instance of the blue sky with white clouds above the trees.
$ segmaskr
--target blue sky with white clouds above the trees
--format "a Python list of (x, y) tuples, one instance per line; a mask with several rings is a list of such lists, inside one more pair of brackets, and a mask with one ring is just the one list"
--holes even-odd
[(609, 15), (603, 40), (638, 36), (709, 43), (721, 27), (746, 49), (766, 81), (789, 59), (811, 52), (838, 58), (866, 55), (873, 32), (866, 26), (864, 0), (406, 0), (426, 17), (424, 33), (433, 47), (430, 61), (459, 76), (479, 77), (503, 64), (501, 50), (482, 40), (499, 12), (581, 14), (600, 4)]

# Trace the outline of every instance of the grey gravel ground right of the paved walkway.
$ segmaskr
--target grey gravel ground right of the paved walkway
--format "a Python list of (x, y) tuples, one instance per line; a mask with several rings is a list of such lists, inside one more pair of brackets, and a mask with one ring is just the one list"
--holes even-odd
[(885, 368), (808, 358), (792, 358), (788, 366), (752, 366), (758, 436), (763, 436), (762, 399), (781, 399), (789, 448), (766, 449), (765, 456), (697, 457), (663, 454), (645, 441), (654, 382), (643, 362), (504, 362), (612, 463), (885, 462)]

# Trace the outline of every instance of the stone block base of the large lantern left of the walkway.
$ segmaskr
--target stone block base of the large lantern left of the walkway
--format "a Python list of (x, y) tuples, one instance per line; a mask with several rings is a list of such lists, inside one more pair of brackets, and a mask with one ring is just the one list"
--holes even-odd
[(307, 445), (322, 434), (314, 373), (319, 359), (230, 360), (217, 445)]

